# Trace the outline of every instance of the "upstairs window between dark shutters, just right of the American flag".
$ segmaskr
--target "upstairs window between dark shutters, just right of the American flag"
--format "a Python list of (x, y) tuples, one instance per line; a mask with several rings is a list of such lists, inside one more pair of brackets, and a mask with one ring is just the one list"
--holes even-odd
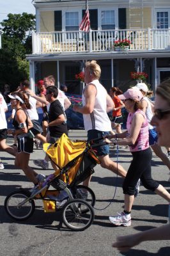
[(102, 29), (115, 29), (114, 11), (102, 11)]

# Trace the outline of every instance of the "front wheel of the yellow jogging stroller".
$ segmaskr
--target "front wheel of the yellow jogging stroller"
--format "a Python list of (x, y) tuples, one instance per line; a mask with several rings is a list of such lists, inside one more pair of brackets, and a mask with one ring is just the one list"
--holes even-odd
[(35, 211), (34, 200), (29, 200), (26, 204), (18, 206), (21, 202), (29, 198), (29, 194), (24, 191), (14, 191), (6, 196), (4, 209), (14, 220), (27, 220)]

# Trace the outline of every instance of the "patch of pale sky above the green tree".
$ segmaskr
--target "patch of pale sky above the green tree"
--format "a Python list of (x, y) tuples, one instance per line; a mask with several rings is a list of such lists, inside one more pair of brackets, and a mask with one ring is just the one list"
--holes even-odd
[(8, 13), (33, 13), (35, 7), (32, 0), (0, 0), (0, 22), (7, 18)]

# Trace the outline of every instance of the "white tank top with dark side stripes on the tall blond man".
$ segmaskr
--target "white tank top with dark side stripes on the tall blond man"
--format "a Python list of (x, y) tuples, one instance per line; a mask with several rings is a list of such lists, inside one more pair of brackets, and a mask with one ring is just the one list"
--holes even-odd
[[(91, 114), (84, 114), (84, 128), (86, 131), (98, 130), (103, 132), (111, 131), (111, 121), (107, 115), (107, 91), (104, 86), (99, 83), (97, 79), (93, 80), (90, 84), (94, 84), (97, 89), (95, 97), (95, 105)], [(86, 90), (86, 88), (85, 88)], [(84, 94), (82, 93), (82, 105), (86, 104)]]

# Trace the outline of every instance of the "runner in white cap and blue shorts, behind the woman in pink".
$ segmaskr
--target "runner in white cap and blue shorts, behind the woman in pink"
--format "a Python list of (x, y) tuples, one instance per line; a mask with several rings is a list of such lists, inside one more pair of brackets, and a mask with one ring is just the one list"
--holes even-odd
[[(146, 114), (146, 118), (148, 119), (149, 122), (149, 142), (150, 142), (150, 147), (152, 148), (153, 152), (155, 152), (155, 155), (160, 157), (162, 162), (169, 168), (170, 170), (170, 161), (169, 158), (164, 154), (162, 151), (162, 148), (157, 144), (157, 131), (154, 129), (153, 125), (150, 124), (151, 118), (153, 117), (153, 112), (152, 109), (154, 108), (154, 104), (146, 97), (148, 93), (148, 86), (145, 83), (138, 83), (134, 88), (140, 90), (144, 98), (142, 100), (142, 105), (143, 105), (143, 112)], [(170, 178), (168, 180), (170, 182)]]

